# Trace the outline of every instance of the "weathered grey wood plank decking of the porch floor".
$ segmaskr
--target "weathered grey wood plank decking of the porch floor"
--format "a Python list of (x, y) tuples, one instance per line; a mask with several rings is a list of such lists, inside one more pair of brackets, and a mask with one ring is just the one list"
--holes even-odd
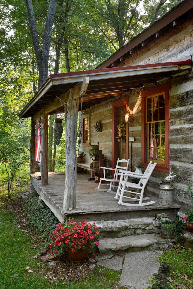
[(154, 196), (151, 196), (151, 199), (156, 203), (151, 206), (127, 207), (119, 205), (113, 198), (113, 194), (96, 190), (97, 184), (88, 181), (89, 177), (90, 175), (87, 173), (77, 173), (76, 209), (72, 211), (62, 209), (64, 172), (49, 172), (48, 186), (41, 186), (40, 181), (35, 179), (34, 174), (31, 174), (31, 183), (44, 203), (60, 221), (65, 220), (66, 217), (73, 217), (77, 221), (124, 220), (150, 217), (155, 213), (168, 213), (170, 218), (174, 218), (176, 210), (180, 208), (176, 204), (161, 206), (159, 205), (159, 199)]

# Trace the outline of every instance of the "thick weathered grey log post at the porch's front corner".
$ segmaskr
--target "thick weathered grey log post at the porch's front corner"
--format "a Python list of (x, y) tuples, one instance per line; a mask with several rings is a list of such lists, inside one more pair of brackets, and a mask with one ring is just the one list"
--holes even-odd
[[(76, 207), (76, 139), (78, 119), (78, 98), (73, 99), (73, 89), (70, 89), (67, 102), (68, 114), (65, 116), (66, 133), (66, 174), (63, 210)], [(66, 109), (65, 109), (66, 113)]]

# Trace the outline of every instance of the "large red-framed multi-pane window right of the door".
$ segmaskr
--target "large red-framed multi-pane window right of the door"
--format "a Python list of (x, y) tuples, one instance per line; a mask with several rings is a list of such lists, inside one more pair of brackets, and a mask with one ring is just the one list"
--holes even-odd
[(167, 172), (169, 166), (169, 84), (143, 91), (142, 162), (156, 162), (155, 170)]

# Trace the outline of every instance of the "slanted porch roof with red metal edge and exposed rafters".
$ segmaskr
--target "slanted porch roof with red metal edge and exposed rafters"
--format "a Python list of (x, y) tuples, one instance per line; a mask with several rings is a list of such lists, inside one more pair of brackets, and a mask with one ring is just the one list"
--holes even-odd
[[(182, 70), (190, 69), (192, 61), (163, 62), (148, 65), (134, 65), (93, 69), (79, 72), (51, 74), (35, 96), (20, 112), (19, 117), (35, 115), (45, 105), (53, 102), (73, 88), (76, 83), (89, 78), (89, 85), (83, 95), (83, 109), (135, 88), (142, 88), (146, 83), (154, 83), (163, 77), (171, 77)], [(79, 110), (81, 99), (79, 99)], [(63, 113), (64, 106), (58, 107), (49, 114)]]

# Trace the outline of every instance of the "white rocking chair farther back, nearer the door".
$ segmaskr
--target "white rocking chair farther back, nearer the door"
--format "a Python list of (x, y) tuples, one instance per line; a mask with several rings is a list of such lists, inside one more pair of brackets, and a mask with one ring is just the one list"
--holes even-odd
[[(100, 179), (99, 186), (98, 186), (98, 188), (96, 188), (96, 189), (97, 189), (97, 190), (100, 190), (100, 191), (108, 191), (109, 193), (115, 193), (115, 191), (112, 191), (111, 189), (115, 189), (115, 188), (118, 187), (118, 185), (116, 185), (115, 183), (116, 183), (116, 182), (119, 182), (118, 176), (121, 175), (121, 173), (119, 173), (119, 170), (127, 170), (127, 169), (128, 169), (128, 166), (129, 166), (129, 161), (130, 161), (130, 159), (128, 159), (128, 160), (125, 160), (125, 159), (120, 160), (120, 159), (118, 159), (118, 160), (117, 160), (117, 164), (116, 164), (116, 168), (114, 168), (114, 169), (113, 169), (113, 168), (101, 167), (101, 168), (103, 168), (103, 171), (104, 171), (104, 178), (101, 178), (101, 179)], [(119, 163), (126, 163), (127, 165), (126, 165), (126, 167), (122, 167), (122, 166), (119, 166)], [(114, 176), (113, 176), (112, 179), (106, 178), (106, 176), (105, 176), (105, 170), (114, 170), (114, 171), (115, 171)], [(123, 178), (122, 178), (122, 180), (123, 180)], [(103, 183), (101, 184), (102, 181), (110, 182), (110, 184), (103, 184)], [(113, 183), (113, 185), (112, 185), (112, 183)], [(104, 185), (104, 186), (107, 185), (107, 186), (109, 186), (109, 190), (107, 190), (107, 189), (101, 189), (101, 188), (100, 188), (101, 185)]]

